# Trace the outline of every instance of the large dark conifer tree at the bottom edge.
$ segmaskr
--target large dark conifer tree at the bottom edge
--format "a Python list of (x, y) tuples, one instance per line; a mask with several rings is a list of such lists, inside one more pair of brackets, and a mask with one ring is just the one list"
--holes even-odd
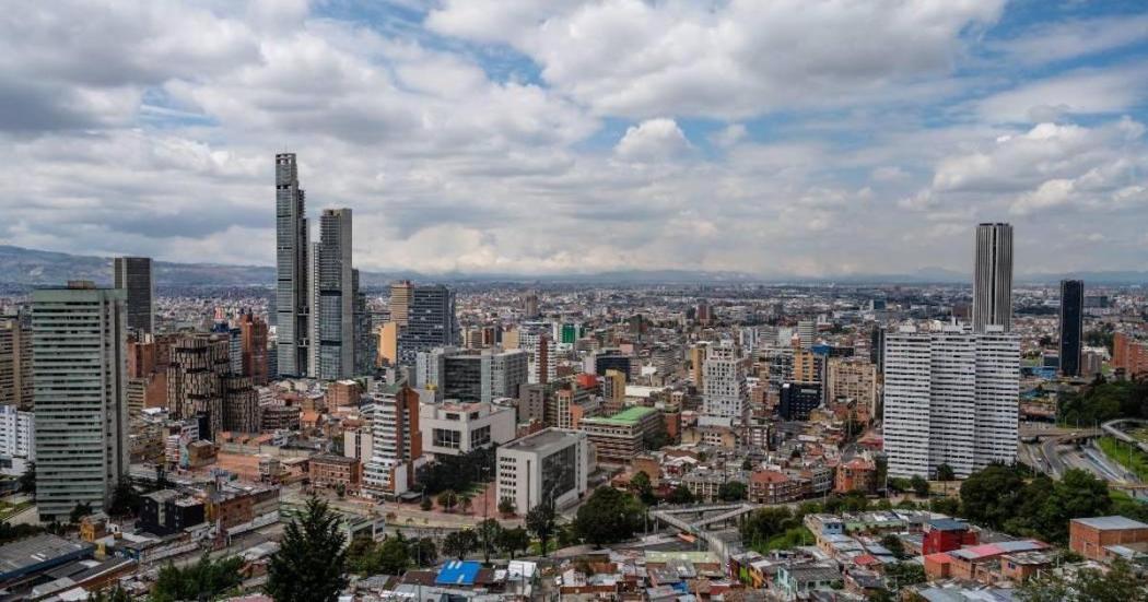
[(347, 538), (339, 521), (326, 502), (312, 497), (287, 524), (267, 565), (266, 592), (276, 602), (334, 602), (347, 587)]

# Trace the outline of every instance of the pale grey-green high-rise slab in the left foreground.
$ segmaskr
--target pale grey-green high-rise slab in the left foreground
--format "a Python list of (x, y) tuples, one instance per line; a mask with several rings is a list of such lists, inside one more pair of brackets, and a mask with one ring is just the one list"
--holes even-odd
[(36, 501), (44, 522), (103, 510), (129, 467), (124, 291), (32, 292)]

